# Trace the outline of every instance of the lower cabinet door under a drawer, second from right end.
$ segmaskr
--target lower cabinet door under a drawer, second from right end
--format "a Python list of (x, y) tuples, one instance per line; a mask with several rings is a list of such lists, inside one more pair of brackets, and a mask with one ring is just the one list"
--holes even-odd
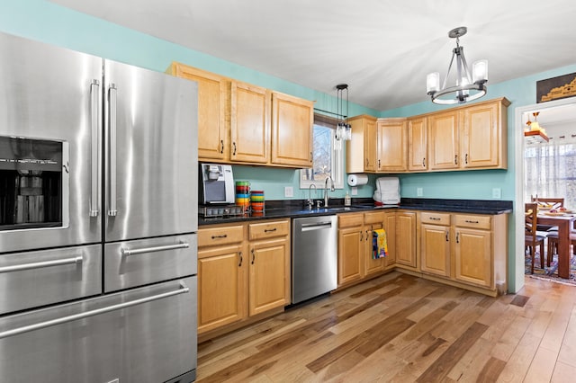
[(420, 229), (420, 269), (422, 272), (450, 276), (450, 228), (422, 224)]

